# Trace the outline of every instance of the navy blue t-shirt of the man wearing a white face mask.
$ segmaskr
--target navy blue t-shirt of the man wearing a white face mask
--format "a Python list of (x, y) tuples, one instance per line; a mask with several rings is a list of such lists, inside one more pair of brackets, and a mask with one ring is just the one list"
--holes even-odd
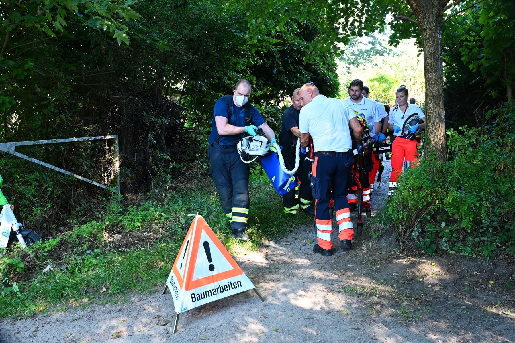
[[(256, 109), (253, 105), (248, 104), (242, 107), (237, 107), (234, 104), (234, 101), (232, 101), (231, 98), (231, 106), (232, 106), (232, 114), (231, 114), (231, 122), (229, 124), (238, 126), (238, 127), (244, 127), (245, 124), (245, 109), (244, 107), (250, 106), (249, 116), (250, 121), (252, 122), (252, 125), (256, 125), (256, 127), (259, 127), (260, 125), (265, 123), (265, 120), (263, 120), (263, 117), (261, 116), (261, 113)], [(216, 122), (215, 117), (226, 117), (229, 118), (229, 114), (227, 113), (227, 100), (224, 97), (221, 97), (220, 99), (216, 100), (215, 106), (213, 107), (213, 123), (211, 128), (211, 134), (209, 135), (209, 142), (215, 143), (216, 137), (218, 137), (218, 130), (216, 129)], [(237, 135), (220, 135), (220, 140), (218, 142), (221, 146), (231, 146), (235, 145), (238, 140), (241, 140), (243, 138), (243, 133), (237, 134)]]

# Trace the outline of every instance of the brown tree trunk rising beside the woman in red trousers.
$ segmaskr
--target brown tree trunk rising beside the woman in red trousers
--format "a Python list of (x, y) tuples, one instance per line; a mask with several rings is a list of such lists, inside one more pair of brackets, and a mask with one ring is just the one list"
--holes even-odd
[(426, 153), (434, 151), (440, 161), (447, 158), (445, 110), (443, 108), (442, 10), (447, 0), (407, 0), (422, 34), (424, 49)]

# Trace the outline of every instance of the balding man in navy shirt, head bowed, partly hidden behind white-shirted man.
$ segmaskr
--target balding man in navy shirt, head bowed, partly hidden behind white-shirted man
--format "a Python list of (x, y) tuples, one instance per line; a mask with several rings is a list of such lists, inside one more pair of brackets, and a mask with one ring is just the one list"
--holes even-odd
[[(299, 91), (300, 88), (293, 91), (293, 94), (291, 94), (291, 105), (284, 111), (281, 118), (279, 144), (283, 147), (284, 165), (288, 170), (295, 167), (297, 141), (300, 137), (299, 115), (302, 106), (300, 105)], [(306, 154), (300, 152), (299, 168), (294, 175), (297, 179), (298, 187), (290, 189), (286, 194), (283, 194), (284, 213), (293, 215), (299, 209), (307, 214), (315, 213), (311, 208), (313, 195), (310, 187), (310, 171), (311, 162), (306, 159)], [(296, 194), (296, 190), (298, 194)]]

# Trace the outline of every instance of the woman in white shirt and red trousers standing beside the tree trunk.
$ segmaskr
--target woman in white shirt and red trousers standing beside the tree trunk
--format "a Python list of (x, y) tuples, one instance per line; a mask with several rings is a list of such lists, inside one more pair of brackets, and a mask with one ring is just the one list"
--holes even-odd
[[(424, 118), (425, 115), (419, 106), (415, 104), (408, 104), (408, 90), (406, 87), (401, 86), (397, 89), (395, 94), (397, 106), (390, 110), (390, 118), (388, 119), (388, 129), (393, 131), (395, 140), (393, 140), (391, 146), (391, 174), (390, 184), (388, 187), (388, 195), (397, 188), (397, 177), (402, 172), (403, 160), (414, 161), (416, 159), (415, 154), (417, 153), (418, 143), (415, 139), (410, 140), (405, 138), (403, 135), (404, 124), (408, 118), (413, 114), (418, 114), (419, 118)], [(413, 117), (411, 117), (413, 118)], [(409, 128), (408, 133), (414, 133), (419, 129), (425, 128), (425, 121), (420, 124), (413, 125)], [(411, 167), (415, 167), (411, 164)]]

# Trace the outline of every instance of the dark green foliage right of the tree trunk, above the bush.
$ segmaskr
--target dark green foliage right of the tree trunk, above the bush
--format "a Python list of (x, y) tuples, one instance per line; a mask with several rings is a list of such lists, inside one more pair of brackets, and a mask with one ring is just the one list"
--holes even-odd
[(444, 23), (445, 119), (455, 130), (482, 127), (486, 112), (512, 97), (515, 7), (510, 2), (482, 4), (449, 15)]

